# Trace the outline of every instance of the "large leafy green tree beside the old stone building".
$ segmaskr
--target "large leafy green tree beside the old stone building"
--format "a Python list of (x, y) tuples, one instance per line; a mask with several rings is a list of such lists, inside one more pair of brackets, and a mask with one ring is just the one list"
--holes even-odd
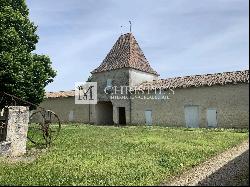
[(28, 16), (25, 0), (0, 0), (0, 91), (38, 105), (56, 72), (48, 56), (32, 52), (39, 37)]

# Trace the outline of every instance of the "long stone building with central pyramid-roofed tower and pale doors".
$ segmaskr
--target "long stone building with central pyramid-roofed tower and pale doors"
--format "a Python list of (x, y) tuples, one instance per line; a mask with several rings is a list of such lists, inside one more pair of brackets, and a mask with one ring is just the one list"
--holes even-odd
[[(249, 125), (249, 71), (160, 79), (132, 33), (121, 35), (93, 70), (96, 105), (75, 104), (74, 91), (49, 92), (41, 104), (63, 122), (243, 128)], [(121, 87), (122, 86), (122, 87)], [(105, 92), (107, 87), (119, 93)], [(122, 88), (129, 88), (125, 93)], [(123, 97), (122, 97), (123, 96)]]

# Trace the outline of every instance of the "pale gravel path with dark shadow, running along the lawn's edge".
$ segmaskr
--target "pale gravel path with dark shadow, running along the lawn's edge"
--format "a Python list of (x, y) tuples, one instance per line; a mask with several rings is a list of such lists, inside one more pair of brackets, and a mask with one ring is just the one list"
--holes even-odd
[(249, 140), (174, 177), (167, 186), (230, 185), (249, 172)]

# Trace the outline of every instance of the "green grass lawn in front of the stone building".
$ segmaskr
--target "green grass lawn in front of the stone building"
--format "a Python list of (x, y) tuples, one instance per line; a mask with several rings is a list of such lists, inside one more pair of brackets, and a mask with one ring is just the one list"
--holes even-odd
[(0, 185), (158, 185), (247, 138), (234, 130), (63, 126), (35, 161), (0, 159)]

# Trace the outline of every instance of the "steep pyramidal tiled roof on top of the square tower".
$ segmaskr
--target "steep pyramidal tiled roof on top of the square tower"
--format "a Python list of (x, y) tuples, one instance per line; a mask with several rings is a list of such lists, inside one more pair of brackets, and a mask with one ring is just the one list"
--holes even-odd
[(159, 75), (150, 66), (132, 33), (121, 35), (101, 65), (91, 73), (110, 71), (120, 68), (133, 68)]

